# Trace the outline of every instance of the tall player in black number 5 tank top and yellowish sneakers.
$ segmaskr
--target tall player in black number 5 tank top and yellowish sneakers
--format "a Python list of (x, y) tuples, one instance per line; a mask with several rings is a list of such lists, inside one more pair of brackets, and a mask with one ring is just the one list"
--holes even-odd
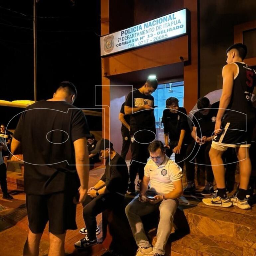
[[(251, 96), (255, 94), (256, 73), (243, 60), (247, 47), (241, 43), (230, 46), (226, 65), (222, 69), (223, 87), (215, 124), (215, 135), (209, 152), (217, 192), (211, 198), (204, 198), (207, 205), (229, 207), (232, 204), (241, 209), (250, 209), (248, 184), (251, 174), (249, 147), (255, 124), (255, 112)], [(225, 188), (225, 170), (222, 154), (228, 147), (236, 148), (240, 166), (238, 192), (230, 199)]]

